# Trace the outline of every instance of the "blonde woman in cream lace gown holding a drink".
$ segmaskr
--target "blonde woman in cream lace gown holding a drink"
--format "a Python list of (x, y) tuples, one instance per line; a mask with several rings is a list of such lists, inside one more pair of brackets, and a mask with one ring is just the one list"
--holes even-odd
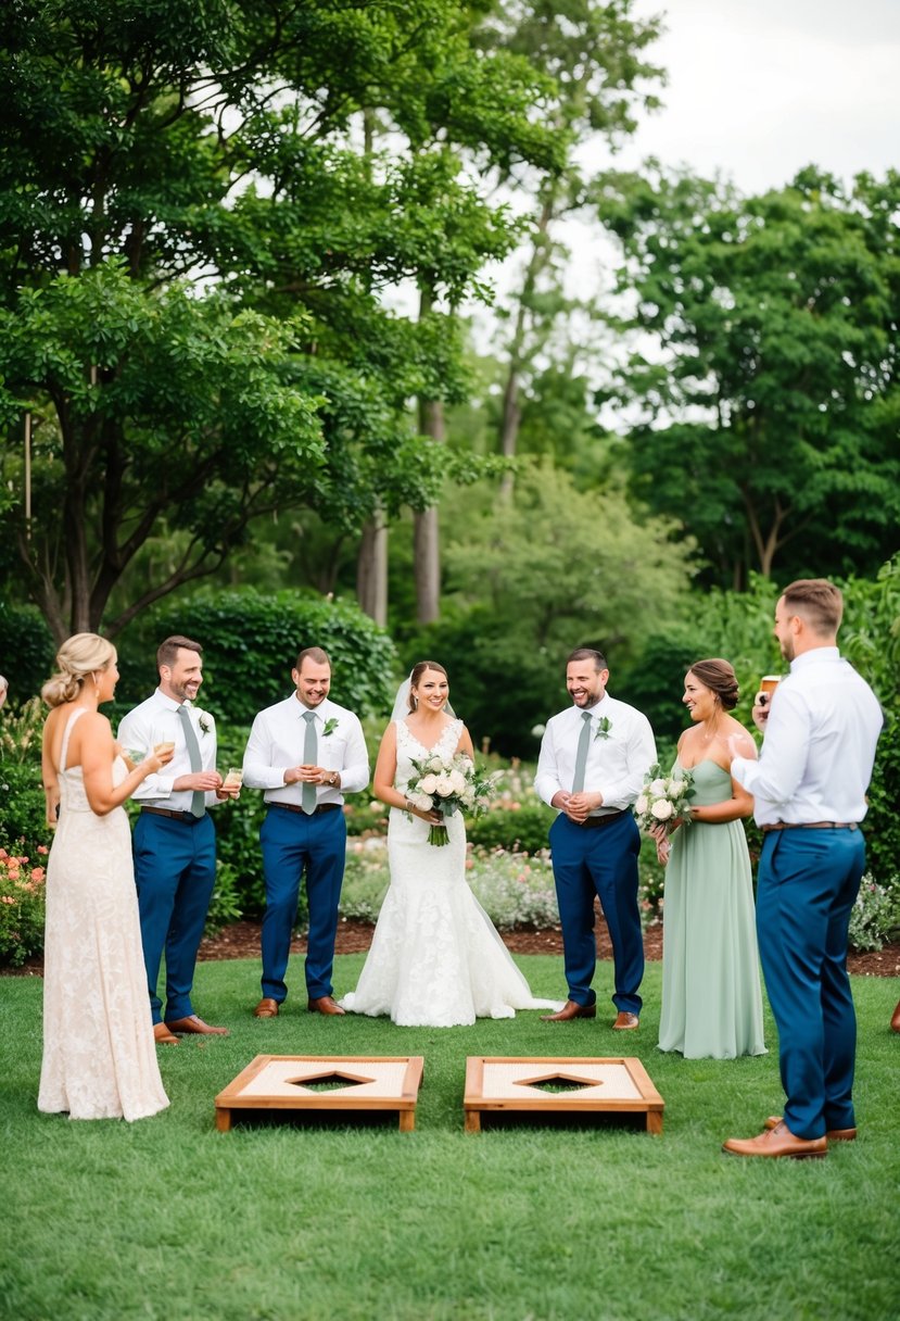
[[(110, 701), (115, 649), (69, 638), (44, 687), (48, 860), (44, 1062), (38, 1110), (70, 1119), (144, 1119), (165, 1110), (137, 918), (131, 830), (121, 803), (172, 753), (136, 769), (117, 754)], [(57, 824), (57, 807), (59, 820)]]

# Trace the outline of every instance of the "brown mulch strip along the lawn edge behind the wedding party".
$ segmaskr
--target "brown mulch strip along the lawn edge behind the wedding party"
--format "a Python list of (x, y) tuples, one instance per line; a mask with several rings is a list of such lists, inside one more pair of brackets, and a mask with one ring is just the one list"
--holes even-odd
[[(337, 954), (364, 954), (372, 943), (373, 927), (368, 922), (342, 921), (338, 923)], [(536, 931), (521, 929), (516, 931), (501, 931), (503, 942), (513, 954), (558, 954), (562, 955), (562, 933), (558, 927)], [(305, 954), (306, 941), (302, 937), (294, 938), (290, 946), (292, 954)], [(612, 958), (612, 946), (606, 922), (598, 913), (596, 918), (596, 952), (599, 958)], [(644, 933), (644, 954), (648, 959), (662, 958), (662, 925), (651, 926)], [(201, 943), (201, 962), (214, 959), (259, 959), (260, 956), (260, 923), (259, 922), (232, 922), (223, 927), (218, 935), (207, 937)], [(870, 978), (896, 978), (900, 976), (900, 945), (885, 945), (876, 954), (856, 954), (847, 956), (847, 968), (856, 976)], [(21, 968), (0, 968), (0, 975), (15, 974), (20, 976), (40, 976), (44, 971), (41, 958), (29, 959)]]

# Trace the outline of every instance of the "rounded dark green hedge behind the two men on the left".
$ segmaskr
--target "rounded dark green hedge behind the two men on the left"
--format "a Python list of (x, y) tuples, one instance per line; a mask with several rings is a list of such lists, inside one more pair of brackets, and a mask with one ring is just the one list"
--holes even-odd
[(156, 687), (156, 649), (174, 633), (203, 646), (201, 704), (247, 733), (259, 711), (293, 691), (290, 671), (309, 646), (331, 657), (335, 701), (363, 716), (393, 700), (393, 643), (352, 602), (286, 590), (202, 592), (148, 613), (123, 637), (120, 709)]

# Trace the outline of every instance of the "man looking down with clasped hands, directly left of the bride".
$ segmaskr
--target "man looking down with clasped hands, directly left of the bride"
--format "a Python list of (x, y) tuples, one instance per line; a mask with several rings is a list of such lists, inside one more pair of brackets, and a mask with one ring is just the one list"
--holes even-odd
[(306, 876), (307, 1008), (342, 1015), (331, 985), (338, 901), (347, 851), (343, 794), (368, 783), (368, 753), (359, 719), (329, 700), (331, 663), (307, 647), (290, 671), (294, 694), (253, 720), (244, 753), (244, 785), (265, 790), (260, 830), (265, 873), (263, 999), (257, 1018), (273, 1018), (288, 995), (285, 972)]

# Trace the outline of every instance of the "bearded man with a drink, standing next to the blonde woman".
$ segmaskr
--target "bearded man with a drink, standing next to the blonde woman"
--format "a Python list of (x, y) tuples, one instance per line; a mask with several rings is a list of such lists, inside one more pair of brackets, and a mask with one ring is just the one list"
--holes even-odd
[[(178, 1045), (176, 1033), (226, 1036), (203, 1022), (191, 1005), (194, 967), (215, 884), (215, 830), (207, 812), (236, 798), (240, 782), (223, 782), (215, 768), (215, 721), (193, 705), (203, 682), (199, 642), (170, 637), (157, 651), (160, 686), (119, 725), (119, 742), (132, 760), (150, 749), (173, 749), (164, 771), (148, 775), (133, 794), (135, 880), (144, 963), (157, 1042)], [(157, 993), (165, 950), (166, 1005)]]

